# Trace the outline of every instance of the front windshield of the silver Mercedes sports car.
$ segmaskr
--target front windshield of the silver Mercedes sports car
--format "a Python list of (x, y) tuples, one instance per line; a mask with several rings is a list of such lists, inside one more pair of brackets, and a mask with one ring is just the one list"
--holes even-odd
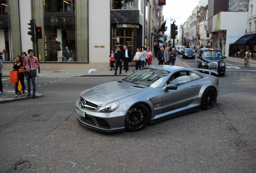
[(162, 69), (142, 68), (130, 74), (123, 80), (151, 88), (157, 88), (169, 73), (169, 71)]

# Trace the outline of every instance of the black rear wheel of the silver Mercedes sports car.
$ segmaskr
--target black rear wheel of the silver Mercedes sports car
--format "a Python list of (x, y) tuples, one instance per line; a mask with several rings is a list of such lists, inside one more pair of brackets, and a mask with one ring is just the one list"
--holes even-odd
[(203, 110), (208, 110), (213, 107), (216, 101), (216, 92), (212, 87), (207, 88), (202, 94), (201, 106)]

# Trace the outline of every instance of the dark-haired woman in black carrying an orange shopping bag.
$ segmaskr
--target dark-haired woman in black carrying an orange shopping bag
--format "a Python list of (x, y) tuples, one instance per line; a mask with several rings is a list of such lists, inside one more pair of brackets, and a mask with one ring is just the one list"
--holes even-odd
[(17, 73), (18, 73), (18, 81), (15, 82), (15, 96), (14, 97), (18, 97), (19, 81), (21, 82), (21, 86), (22, 86), (21, 97), (23, 97), (25, 95), (25, 84), (24, 84), (25, 69), (21, 68), (22, 66), (23, 66), (23, 58), (21, 58), (21, 56), (17, 55), (15, 57), (15, 62), (13, 63), (13, 69), (14, 69), (14, 71), (17, 71)]

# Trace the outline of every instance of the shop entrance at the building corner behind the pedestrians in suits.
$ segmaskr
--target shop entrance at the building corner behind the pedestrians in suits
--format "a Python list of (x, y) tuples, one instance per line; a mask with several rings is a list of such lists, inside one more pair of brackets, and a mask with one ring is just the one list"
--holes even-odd
[(131, 50), (132, 57), (136, 52), (136, 29), (128, 28), (113, 28), (112, 29), (112, 48), (115, 49), (119, 46), (121, 50), (124, 49), (124, 45), (127, 45)]

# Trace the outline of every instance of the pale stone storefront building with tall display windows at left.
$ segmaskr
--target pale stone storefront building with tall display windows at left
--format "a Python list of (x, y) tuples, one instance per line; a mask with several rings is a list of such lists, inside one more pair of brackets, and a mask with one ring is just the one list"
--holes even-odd
[[(153, 45), (161, 23), (156, 2), (0, 0), (0, 58), (11, 69), (16, 55), (33, 49), (41, 69), (107, 68), (111, 49), (128, 45), (135, 54)], [(31, 19), (43, 31), (38, 51), (27, 33)]]

